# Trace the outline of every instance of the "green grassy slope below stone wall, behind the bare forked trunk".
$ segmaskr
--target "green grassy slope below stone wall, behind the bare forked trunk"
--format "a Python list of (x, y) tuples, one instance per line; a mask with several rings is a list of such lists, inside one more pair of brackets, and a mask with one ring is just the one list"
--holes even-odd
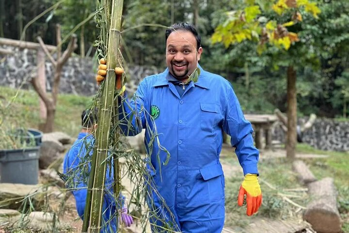
[[(43, 123), (39, 118), (39, 97), (33, 90), (0, 86), (0, 93), (1, 127), (38, 129), (39, 124)], [(59, 95), (54, 130), (76, 136), (81, 127), (81, 112), (91, 102), (92, 97)]]

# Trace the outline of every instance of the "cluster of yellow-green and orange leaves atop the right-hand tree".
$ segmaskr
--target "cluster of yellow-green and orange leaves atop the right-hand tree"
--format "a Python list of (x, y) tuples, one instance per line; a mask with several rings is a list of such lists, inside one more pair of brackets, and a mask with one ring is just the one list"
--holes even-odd
[(261, 11), (260, 2), (245, 0), (244, 9), (227, 12), (226, 21), (211, 36), (212, 43), (223, 43), (228, 48), (248, 39), (259, 42), (259, 53), (265, 49), (266, 43), (288, 50), (293, 42), (299, 41), (298, 34), (288, 32), (287, 27), (302, 21), (300, 11), (304, 10), (316, 18), (320, 13), (317, 4), (309, 0), (278, 0), (274, 1), (272, 11), (286, 15), (289, 21), (275, 21), (265, 17), (265, 13), (269, 12)]

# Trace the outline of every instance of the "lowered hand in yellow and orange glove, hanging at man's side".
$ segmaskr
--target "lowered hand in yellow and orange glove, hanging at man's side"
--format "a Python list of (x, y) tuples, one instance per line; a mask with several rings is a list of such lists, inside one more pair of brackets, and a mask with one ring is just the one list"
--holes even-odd
[(246, 194), (246, 215), (252, 216), (262, 204), (262, 191), (256, 174), (246, 174), (238, 194), (238, 205), (241, 206)]

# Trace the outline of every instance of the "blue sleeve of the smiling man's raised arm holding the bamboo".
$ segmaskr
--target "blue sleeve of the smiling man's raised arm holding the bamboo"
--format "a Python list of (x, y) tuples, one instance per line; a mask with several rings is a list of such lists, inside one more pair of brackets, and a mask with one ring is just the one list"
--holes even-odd
[(119, 97), (119, 120), (121, 132), (126, 136), (141, 133), (146, 127), (147, 84), (143, 80), (131, 99)]

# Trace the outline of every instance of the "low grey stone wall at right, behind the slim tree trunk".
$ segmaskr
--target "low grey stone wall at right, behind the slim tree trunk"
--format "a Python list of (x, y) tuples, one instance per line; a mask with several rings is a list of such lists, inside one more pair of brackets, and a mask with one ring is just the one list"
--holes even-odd
[[(299, 122), (305, 120), (301, 118)], [(285, 142), (286, 135), (280, 126), (274, 127), (272, 136), (273, 140)], [(301, 139), (319, 150), (349, 151), (349, 121), (317, 119), (312, 128), (302, 133)]]

